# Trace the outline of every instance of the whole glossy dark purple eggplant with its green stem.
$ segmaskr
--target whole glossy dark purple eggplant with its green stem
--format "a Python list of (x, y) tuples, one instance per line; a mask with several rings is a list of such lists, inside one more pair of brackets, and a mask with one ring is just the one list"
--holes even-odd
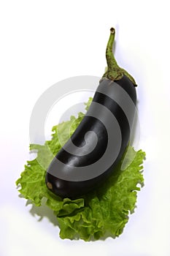
[(47, 169), (45, 182), (55, 195), (71, 199), (107, 181), (125, 153), (136, 110), (134, 78), (117, 65), (112, 53), (115, 29), (107, 43), (107, 71), (90, 108)]

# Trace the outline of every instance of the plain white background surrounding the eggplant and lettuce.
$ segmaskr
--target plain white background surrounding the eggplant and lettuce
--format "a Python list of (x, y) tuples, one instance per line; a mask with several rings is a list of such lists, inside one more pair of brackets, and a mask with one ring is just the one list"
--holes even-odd
[[(0, 255), (169, 256), (169, 1), (0, 1)], [(123, 235), (61, 240), (18, 197), (29, 159), (29, 118), (39, 96), (77, 75), (101, 77), (109, 29), (115, 56), (136, 83), (145, 186)]]

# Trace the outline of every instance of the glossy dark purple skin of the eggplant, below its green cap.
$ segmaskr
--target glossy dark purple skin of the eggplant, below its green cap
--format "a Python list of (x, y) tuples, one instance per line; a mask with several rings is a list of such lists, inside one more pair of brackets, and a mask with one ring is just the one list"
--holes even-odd
[[(115, 96), (117, 97), (117, 100), (112, 99), (111, 96), (109, 97), (109, 91), (111, 90), (112, 93), (113, 89), (114, 94), (115, 88), (118, 90), (120, 89), (120, 93), (116, 94)], [(121, 91), (123, 91), (123, 94)], [(130, 100), (132, 103), (132, 107), (128, 111), (128, 117), (122, 108), (122, 105), (124, 105), (124, 109), (129, 108), (128, 104), (125, 105), (125, 97), (123, 95), (127, 95), (127, 102)], [(117, 157), (112, 162), (112, 165), (109, 167), (107, 166), (107, 169), (104, 170), (103, 173), (97, 174), (97, 170), (95, 170), (96, 174), (94, 177), (92, 175), (90, 178), (85, 179), (82, 178), (81, 175), (79, 177), (78, 174), (76, 178), (69, 179), (69, 175), (72, 173), (72, 167), (74, 169), (74, 167), (88, 167), (89, 165), (93, 165), (98, 161), (98, 159), (101, 159), (101, 157), (104, 156), (109, 143), (108, 132), (104, 123), (102, 123), (100, 118), (89, 115), (89, 113), (93, 113), (94, 110), (98, 111), (95, 109), (98, 105), (94, 105), (93, 107), (90, 105), (88, 112), (85, 114), (85, 117), (82, 119), (80, 125), (77, 127), (71, 137), (72, 143), (79, 148), (79, 154), (77, 154), (77, 150), (72, 151), (72, 153), (70, 153), (69, 150), (67, 151), (67, 148), (69, 148), (69, 142), (67, 142), (55, 156), (47, 170), (45, 181), (47, 187), (51, 189), (55, 195), (74, 199), (83, 196), (91, 190), (101, 186), (101, 184), (103, 184), (107, 178), (109, 178), (112, 172), (114, 172), (117, 163), (120, 162), (121, 157), (123, 157), (125, 148), (128, 146), (131, 134), (131, 124), (129, 124), (129, 118), (131, 121), (133, 121), (136, 106), (136, 89), (131, 80), (126, 75), (123, 75), (123, 78), (120, 80), (115, 80), (114, 82), (109, 79), (101, 80), (98, 88), (96, 89), (96, 93), (94, 94), (92, 103), (98, 103), (98, 105), (101, 105), (101, 107), (107, 108), (112, 115), (115, 116), (120, 127), (122, 138), (120, 141), (119, 154), (117, 154)], [(102, 111), (98, 113), (98, 117), (100, 117), (100, 115), (103, 115)], [(106, 115), (104, 118), (104, 121), (109, 123), (109, 116)], [(93, 148), (89, 154), (85, 154), (83, 149), (81, 154), (81, 148), (85, 146), (85, 134), (88, 131), (94, 132), (97, 135), (98, 140), (95, 148)], [(115, 127), (112, 127), (112, 132), (115, 132)], [(91, 141), (91, 143), (93, 143), (93, 140)], [(114, 150), (115, 147), (112, 145), (113, 153)], [(108, 157), (112, 159), (112, 154)], [(64, 165), (58, 165), (57, 160), (62, 162)], [(64, 166), (66, 166), (66, 168)], [(60, 173), (63, 173), (63, 178), (61, 178), (61, 175), (58, 175), (59, 168)], [(63, 169), (61, 170), (61, 168)]]

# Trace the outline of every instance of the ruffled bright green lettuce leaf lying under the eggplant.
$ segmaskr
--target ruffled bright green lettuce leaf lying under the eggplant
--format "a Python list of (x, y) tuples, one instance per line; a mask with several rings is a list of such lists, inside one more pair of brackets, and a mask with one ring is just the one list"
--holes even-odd
[[(85, 104), (86, 110), (91, 100), (92, 98)], [(27, 161), (25, 170), (16, 184), (20, 187), (20, 194), (32, 204), (42, 206), (45, 201), (46, 205), (53, 210), (58, 220), (61, 238), (81, 238), (85, 241), (108, 236), (115, 238), (123, 233), (129, 215), (136, 207), (137, 192), (144, 184), (142, 175), (144, 151), (135, 151), (128, 146), (128, 157), (124, 154), (107, 182), (77, 200), (58, 197), (47, 189), (45, 184), (46, 170), (53, 155), (57, 154), (63, 143), (68, 140), (68, 130), (71, 136), (84, 115), (79, 113), (77, 118), (71, 116), (69, 121), (53, 127), (52, 138), (45, 141), (44, 145), (30, 145), (31, 152), (36, 151), (37, 156)], [(128, 161), (133, 160), (125, 170), (121, 170), (120, 166), (125, 158)]]

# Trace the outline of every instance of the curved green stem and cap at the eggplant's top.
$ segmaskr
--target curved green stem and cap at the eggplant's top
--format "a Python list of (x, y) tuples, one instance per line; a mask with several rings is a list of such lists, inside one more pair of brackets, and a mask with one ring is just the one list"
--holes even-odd
[(120, 80), (123, 78), (123, 75), (126, 75), (134, 86), (136, 86), (134, 78), (130, 74), (128, 74), (125, 69), (119, 67), (117, 65), (117, 61), (115, 60), (115, 56), (113, 55), (112, 47), (115, 41), (115, 29), (110, 29), (110, 36), (109, 41), (107, 43), (107, 50), (106, 50), (106, 58), (107, 58), (107, 71), (104, 73), (102, 79), (109, 79), (109, 80)]

